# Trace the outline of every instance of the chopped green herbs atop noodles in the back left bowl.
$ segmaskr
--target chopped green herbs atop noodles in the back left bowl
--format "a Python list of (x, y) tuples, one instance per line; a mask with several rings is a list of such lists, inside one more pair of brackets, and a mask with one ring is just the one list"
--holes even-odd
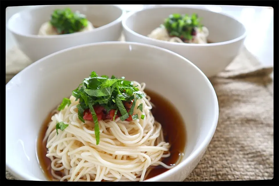
[(56, 9), (51, 15), (50, 24), (58, 34), (70, 34), (80, 31), (88, 25), (85, 15), (72, 12), (70, 8)]

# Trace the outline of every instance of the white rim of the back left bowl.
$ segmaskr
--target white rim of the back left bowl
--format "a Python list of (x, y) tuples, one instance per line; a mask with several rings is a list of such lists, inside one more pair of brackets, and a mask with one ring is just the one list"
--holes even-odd
[[(106, 5), (106, 4), (104, 4), (104, 5)], [(40, 6), (40, 7), (36, 7), (36, 8), (31, 8), (31, 9), (28, 9), (28, 10), (22, 10), (22, 11), (20, 11), (20, 12), (17, 12), (17, 13), (15, 13), (14, 15), (12, 15), (12, 17), (10, 17), (10, 19), (8, 20), (8, 22), (7, 22), (7, 28), (8, 28), (8, 30), (10, 31), (10, 32), (12, 32), (12, 33), (15, 33), (15, 34), (17, 34), (17, 35), (20, 35), (20, 36), (24, 36), (24, 37), (31, 37), (31, 38), (67, 38), (67, 37), (72, 37), (72, 36), (78, 36), (78, 35), (82, 35), (82, 34), (84, 34), (84, 33), (94, 33), (94, 32), (96, 32), (96, 31), (99, 31), (99, 30), (104, 30), (104, 29), (106, 29), (106, 28), (109, 28), (109, 27), (111, 27), (111, 26), (114, 26), (115, 24), (117, 24), (117, 23), (119, 23), (119, 22), (121, 22), (121, 20), (123, 19), (123, 17), (124, 17), (124, 15), (125, 15), (125, 13), (126, 13), (126, 11), (125, 10), (123, 10), (122, 8), (120, 8), (119, 6), (117, 6), (117, 5), (107, 5), (107, 6), (112, 6), (112, 7), (115, 7), (115, 8), (118, 8), (119, 10), (121, 10), (122, 11), (122, 14), (120, 15), (120, 17), (118, 17), (117, 19), (115, 19), (114, 21), (112, 21), (112, 22), (110, 22), (110, 23), (108, 23), (108, 24), (106, 24), (106, 25), (103, 25), (103, 26), (100, 26), (100, 27), (98, 27), (98, 28), (94, 28), (93, 30), (90, 30), (90, 31), (83, 31), (83, 32), (76, 32), (76, 33), (71, 33), (71, 34), (60, 34), (60, 35), (34, 35), (34, 34), (22, 34), (22, 33), (20, 33), (20, 32), (17, 32), (17, 31), (15, 31), (15, 30), (13, 30), (12, 28), (10, 28), (10, 20), (12, 20), (14, 17), (16, 17), (16, 16), (18, 16), (18, 15), (20, 15), (20, 14), (22, 14), (23, 12), (31, 12), (32, 10), (35, 10), (35, 9), (43, 9), (43, 8), (46, 8), (46, 7), (49, 7), (49, 6), (55, 6), (55, 5), (45, 5), (45, 6)], [(92, 6), (94, 6), (94, 5), (92, 5)]]

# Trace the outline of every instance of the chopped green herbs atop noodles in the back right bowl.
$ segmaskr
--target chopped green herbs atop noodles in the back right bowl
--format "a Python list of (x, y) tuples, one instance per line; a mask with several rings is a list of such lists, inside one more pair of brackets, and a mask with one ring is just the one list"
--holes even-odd
[(163, 25), (167, 29), (169, 36), (179, 37), (183, 41), (191, 40), (193, 35), (195, 35), (194, 28), (201, 28), (203, 26), (196, 14), (191, 16), (187, 14), (171, 14), (165, 19)]

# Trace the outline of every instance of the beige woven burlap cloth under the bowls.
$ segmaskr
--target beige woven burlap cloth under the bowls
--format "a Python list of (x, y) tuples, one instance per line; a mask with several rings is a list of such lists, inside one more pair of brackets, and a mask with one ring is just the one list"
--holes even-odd
[[(16, 47), (6, 53), (6, 82), (31, 61)], [(273, 178), (273, 67), (263, 67), (245, 48), (210, 78), (219, 122), (208, 150), (185, 181)], [(15, 179), (6, 171), (6, 178)]]

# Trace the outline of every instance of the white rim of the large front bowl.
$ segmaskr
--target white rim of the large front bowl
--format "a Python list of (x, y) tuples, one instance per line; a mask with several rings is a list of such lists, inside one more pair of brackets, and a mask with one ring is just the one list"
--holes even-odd
[[(174, 171), (178, 171), (179, 169), (183, 169), (183, 167), (187, 166), (187, 164), (189, 164), (190, 162), (192, 162), (195, 158), (198, 157), (198, 155), (200, 155), (203, 150), (206, 150), (208, 144), (210, 143), (214, 133), (215, 133), (215, 130), (216, 130), (216, 127), (217, 127), (217, 123), (218, 123), (218, 118), (219, 118), (219, 104), (218, 104), (218, 99), (217, 99), (217, 95), (216, 95), (216, 92), (212, 86), (212, 84), (210, 83), (209, 79), (205, 76), (205, 74), (203, 74), (203, 72), (198, 68), (196, 67), (196, 65), (194, 65), (192, 62), (190, 62), (189, 60), (187, 60), (186, 58), (184, 58), (183, 56), (175, 53), (175, 52), (172, 52), (170, 50), (167, 50), (167, 49), (164, 49), (164, 48), (161, 48), (161, 47), (157, 47), (157, 46), (153, 46), (153, 45), (149, 45), (149, 44), (143, 44), (143, 43), (136, 43), (136, 42), (121, 42), (121, 41), (109, 41), (109, 42), (98, 42), (98, 43), (90, 43), (90, 44), (83, 44), (83, 45), (78, 45), (78, 46), (75, 46), (75, 47), (71, 47), (71, 48), (67, 48), (67, 49), (63, 49), (63, 50), (60, 50), (58, 52), (55, 52), (55, 53), (52, 53), (48, 56), (45, 56), (44, 58), (40, 59), (40, 60), (37, 60), (36, 62), (32, 63), (31, 65), (29, 65), (28, 67), (26, 67), (25, 69), (23, 69), (22, 71), (20, 71), (17, 75), (15, 75), (7, 84), (6, 84), (6, 90), (7, 90), (7, 87), (10, 86), (12, 80), (14, 78), (16, 78), (17, 76), (20, 76), (22, 73), (24, 73), (25, 71), (27, 71), (28, 69), (32, 68), (34, 65), (37, 65), (38, 63), (40, 62), (43, 62), (44, 60), (46, 60), (47, 58), (51, 58), (52, 56), (55, 56), (57, 54), (60, 54), (60, 53), (64, 53), (65, 51), (71, 51), (71, 50), (74, 50), (74, 49), (78, 49), (78, 48), (85, 48), (85, 47), (90, 47), (90, 46), (98, 46), (98, 45), (112, 45), (112, 44), (115, 44), (115, 45), (127, 45), (127, 44), (131, 44), (131, 45), (138, 45), (138, 46), (143, 46), (143, 47), (148, 47), (148, 48), (154, 48), (154, 49), (159, 49), (161, 51), (165, 51), (167, 53), (170, 53), (174, 56), (177, 56), (183, 60), (185, 60), (185, 62), (187, 61), (188, 63), (190, 63), (197, 71), (200, 72), (201, 76), (203, 76), (203, 78), (205, 79), (205, 81), (207, 82), (208, 86), (210, 87), (210, 90), (211, 90), (211, 94), (213, 96), (213, 99), (214, 99), (214, 105), (213, 105), (213, 109), (214, 109), (214, 112), (216, 113), (215, 116), (214, 116), (214, 120), (212, 122), (212, 126), (210, 127), (210, 130), (208, 131), (208, 134), (207, 136), (205, 137), (205, 140), (203, 140), (203, 142), (201, 143), (201, 145), (195, 150), (193, 151), (185, 160), (182, 160), (178, 165), (176, 165), (174, 168), (172, 169), (169, 169), (168, 171), (162, 173), (162, 174), (159, 174), (157, 176), (154, 176), (152, 178), (149, 178), (147, 180), (144, 180), (144, 181), (160, 181), (162, 178), (166, 177), (166, 176), (170, 176), (171, 174), (173, 174), (172, 172)], [(36, 153), (36, 152), (35, 152)], [(33, 176), (30, 176), (24, 172), (18, 172), (17, 170), (12, 170), (9, 166), (9, 164), (6, 162), (6, 169), (8, 169), (8, 171), (10, 171), (12, 174), (15, 174), (17, 175), (17, 178), (21, 178), (23, 180), (39, 180)]]

